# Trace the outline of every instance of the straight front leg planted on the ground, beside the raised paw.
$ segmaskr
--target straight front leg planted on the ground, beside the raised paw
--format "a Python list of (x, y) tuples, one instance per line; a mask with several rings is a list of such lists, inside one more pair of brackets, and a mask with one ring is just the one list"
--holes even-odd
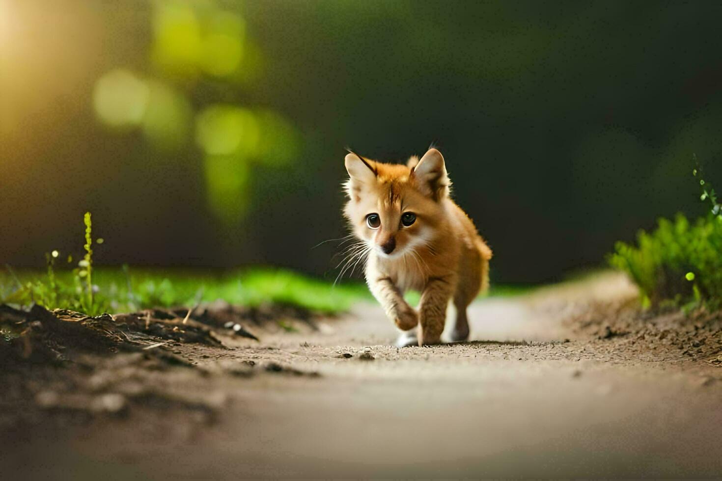
[(427, 282), (419, 302), (419, 345), (440, 343), (453, 287), (451, 276), (430, 278)]

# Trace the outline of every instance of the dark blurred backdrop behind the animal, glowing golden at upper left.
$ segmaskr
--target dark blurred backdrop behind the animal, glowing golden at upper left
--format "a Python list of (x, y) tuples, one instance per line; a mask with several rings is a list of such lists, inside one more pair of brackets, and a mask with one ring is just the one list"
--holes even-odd
[[(615, 240), (658, 216), (703, 213), (693, 153), (722, 182), (718, 2), (1, 6), (0, 262), (12, 265), (79, 251), (90, 210), (103, 264), (281, 265), (333, 278), (334, 242), (312, 247), (346, 233), (346, 146), (394, 162), (438, 146), (503, 282), (603, 265)], [(171, 7), (242, 19), (238, 71), (158, 61), (153, 22)], [(173, 141), (99, 119), (94, 89), (118, 68), (181, 96), (191, 120)], [(214, 161), (193, 141), (193, 115), (218, 104), (270, 109), (291, 129), (285, 144), (269, 134), (282, 161), (224, 157), (245, 169), (227, 190), (241, 207), (209, 204)]]

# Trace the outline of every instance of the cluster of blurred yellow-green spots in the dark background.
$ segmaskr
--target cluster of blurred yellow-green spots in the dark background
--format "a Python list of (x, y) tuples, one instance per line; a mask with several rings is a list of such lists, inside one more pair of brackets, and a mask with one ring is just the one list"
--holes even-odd
[(243, 89), (258, 78), (261, 53), (239, 12), (214, 1), (152, 1), (150, 74), (112, 69), (95, 84), (97, 118), (119, 132), (139, 128), (158, 149), (180, 151), (193, 128), (204, 153), (206, 202), (227, 225), (248, 210), (254, 163), (281, 167), (297, 156), (300, 135), (273, 110), (205, 94), (219, 84)]

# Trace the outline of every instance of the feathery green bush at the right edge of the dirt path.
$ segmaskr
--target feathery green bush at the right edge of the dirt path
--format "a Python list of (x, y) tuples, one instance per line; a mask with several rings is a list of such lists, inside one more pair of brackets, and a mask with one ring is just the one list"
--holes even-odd
[(610, 262), (639, 286), (643, 304), (664, 301), (690, 305), (722, 302), (722, 213), (716, 193), (694, 170), (710, 204), (708, 215), (690, 222), (682, 213), (674, 221), (660, 219), (651, 232), (640, 231), (637, 244), (617, 242)]

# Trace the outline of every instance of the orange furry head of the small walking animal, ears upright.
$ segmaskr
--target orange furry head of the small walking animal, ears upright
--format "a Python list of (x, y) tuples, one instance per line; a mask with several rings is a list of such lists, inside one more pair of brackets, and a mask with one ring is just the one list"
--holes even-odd
[(349, 201), (344, 215), (354, 234), (381, 258), (402, 257), (426, 244), (444, 216), (450, 182), (436, 149), (406, 165), (346, 156)]

